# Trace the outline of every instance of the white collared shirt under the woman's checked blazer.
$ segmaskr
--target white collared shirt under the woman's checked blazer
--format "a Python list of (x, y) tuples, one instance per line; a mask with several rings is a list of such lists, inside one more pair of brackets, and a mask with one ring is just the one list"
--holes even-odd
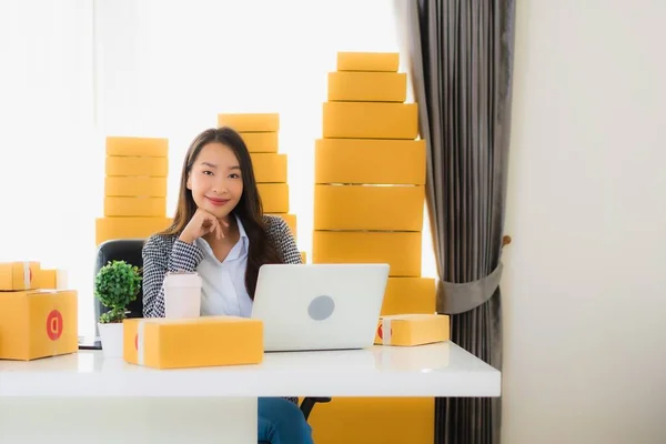
[(236, 222), (240, 238), (223, 262), (215, 258), (205, 240), (196, 239), (196, 245), (203, 252), (203, 260), (196, 268), (202, 279), (202, 316), (225, 314), (250, 317), (252, 313), (252, 300), (245, 289), (250, 239), (238, 216)]

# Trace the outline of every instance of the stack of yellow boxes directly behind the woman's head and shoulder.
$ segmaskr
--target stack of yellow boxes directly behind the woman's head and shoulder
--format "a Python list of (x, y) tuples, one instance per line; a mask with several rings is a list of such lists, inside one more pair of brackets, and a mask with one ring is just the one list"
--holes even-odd
[[(238, 131), (252, 158), (256, 188), (266, 214), (279, 215), (296, 236), (296, 215), (290, 213), (287, 157), (279, 152), (280, 114), (221, 113), (218, 127)], [(305, 262), (304, 253), (301, 253)]]

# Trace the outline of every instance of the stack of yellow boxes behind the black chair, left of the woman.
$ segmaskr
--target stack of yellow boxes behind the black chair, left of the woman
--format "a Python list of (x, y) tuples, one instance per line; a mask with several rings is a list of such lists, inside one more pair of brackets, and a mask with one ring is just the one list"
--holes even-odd
[(169, 141), (107, 138), (104, 218), (95, 224), (95, 244), (111, 239), (144, 239), (167, 229)]

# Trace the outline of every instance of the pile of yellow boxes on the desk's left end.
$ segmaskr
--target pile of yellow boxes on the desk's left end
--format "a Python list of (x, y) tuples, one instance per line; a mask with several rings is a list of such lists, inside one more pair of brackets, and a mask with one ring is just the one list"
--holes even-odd
[(59, 289), (58, 274), (39, 262), (0, 263), (0, 360), (78, 351), (78, 295)]

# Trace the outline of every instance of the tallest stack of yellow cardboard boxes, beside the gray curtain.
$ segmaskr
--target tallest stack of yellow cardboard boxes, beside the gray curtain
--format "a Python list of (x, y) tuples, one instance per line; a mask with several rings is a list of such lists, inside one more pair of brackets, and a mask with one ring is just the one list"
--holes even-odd
[[(389, 263), (382, 315), (435, 312), (435, 282), (421, 278), (425, 142), (398, 64), (397, 53), (340, 52), (315, 143), (313, 262)], [(317, 443), (432, 443), (433, 406), (334, 398), (312, 422)]]

